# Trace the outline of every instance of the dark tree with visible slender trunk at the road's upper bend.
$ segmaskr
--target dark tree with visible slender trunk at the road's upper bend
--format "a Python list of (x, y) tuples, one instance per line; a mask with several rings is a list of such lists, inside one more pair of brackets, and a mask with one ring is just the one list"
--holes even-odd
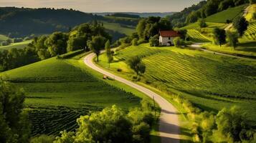
[(92, 41), (87, 41), (87, 46), (96, 54), (97, 61), (99, 61), (100, 50), (103, 49), (106, 41), (107, 39), (103, 36), (93, 36)]

